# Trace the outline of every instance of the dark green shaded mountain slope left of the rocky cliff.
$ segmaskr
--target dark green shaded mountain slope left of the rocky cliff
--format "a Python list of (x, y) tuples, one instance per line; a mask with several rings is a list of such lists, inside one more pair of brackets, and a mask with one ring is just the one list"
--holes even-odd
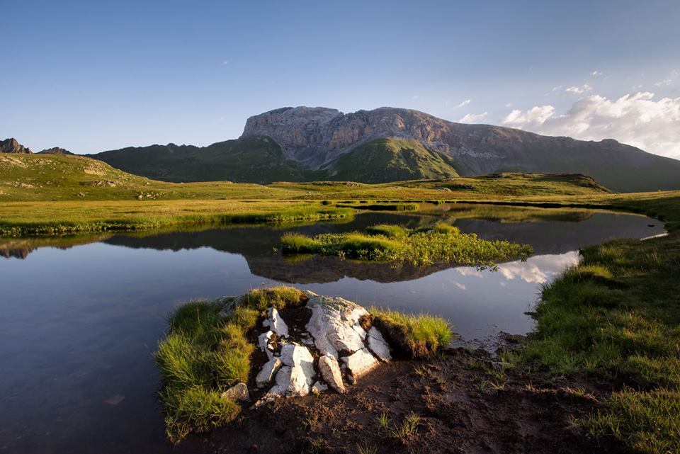
[(267, 137), (217, 142), (208, 147), (151, 145), (88, 155), (116, 169), (161, 181), (234, 181), (271, 183), (313, 177), (305, 167), (283, 157)]

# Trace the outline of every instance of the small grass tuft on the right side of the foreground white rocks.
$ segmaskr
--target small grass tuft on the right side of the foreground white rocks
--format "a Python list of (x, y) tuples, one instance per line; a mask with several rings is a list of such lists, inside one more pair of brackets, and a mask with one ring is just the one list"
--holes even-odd
[(428, 358), (441, 351), (453, 339), (450, 324), (429, 314), (406, 314), (380, 307), (370, 307), (371, 322), (392, 346), (410, 358)]

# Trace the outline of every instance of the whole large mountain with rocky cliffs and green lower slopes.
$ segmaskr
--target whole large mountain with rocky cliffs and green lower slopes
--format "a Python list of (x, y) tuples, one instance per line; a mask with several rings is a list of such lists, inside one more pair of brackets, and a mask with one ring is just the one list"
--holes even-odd
[(582, 141), (452, 123), (399, 108), (355, 113), (280, 108), (249, 118), (237, 140), (89, 156), (164, 181), (380, 183), (514, 171), (584, 174), (615, 191), (680, 188), (680, 161), (616, 140)]

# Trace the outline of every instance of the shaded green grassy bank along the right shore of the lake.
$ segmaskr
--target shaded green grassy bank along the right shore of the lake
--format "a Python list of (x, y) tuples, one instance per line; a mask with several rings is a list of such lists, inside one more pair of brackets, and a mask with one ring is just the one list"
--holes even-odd
[(669, 236), (583, 249), (578, 266), (543, 288), (536, 331), (516, 363), (610, 384), (604, 408), (579, 423), (635, 452), (678, 453), (680, 199), (648, 209)]

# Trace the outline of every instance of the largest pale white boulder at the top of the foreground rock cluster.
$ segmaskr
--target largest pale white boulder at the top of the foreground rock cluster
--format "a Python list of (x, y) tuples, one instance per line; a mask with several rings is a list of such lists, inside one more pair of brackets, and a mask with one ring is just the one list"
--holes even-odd
[(338, 357), (339, 351), (353, 353), (364, 348), (365, 331), (359, 318), (368, 314), (355, 303), (341, 297), (316, 296), (307, 301), (312, 317), (307, 331), (314, 337), (314, 345), (322, 355)]

